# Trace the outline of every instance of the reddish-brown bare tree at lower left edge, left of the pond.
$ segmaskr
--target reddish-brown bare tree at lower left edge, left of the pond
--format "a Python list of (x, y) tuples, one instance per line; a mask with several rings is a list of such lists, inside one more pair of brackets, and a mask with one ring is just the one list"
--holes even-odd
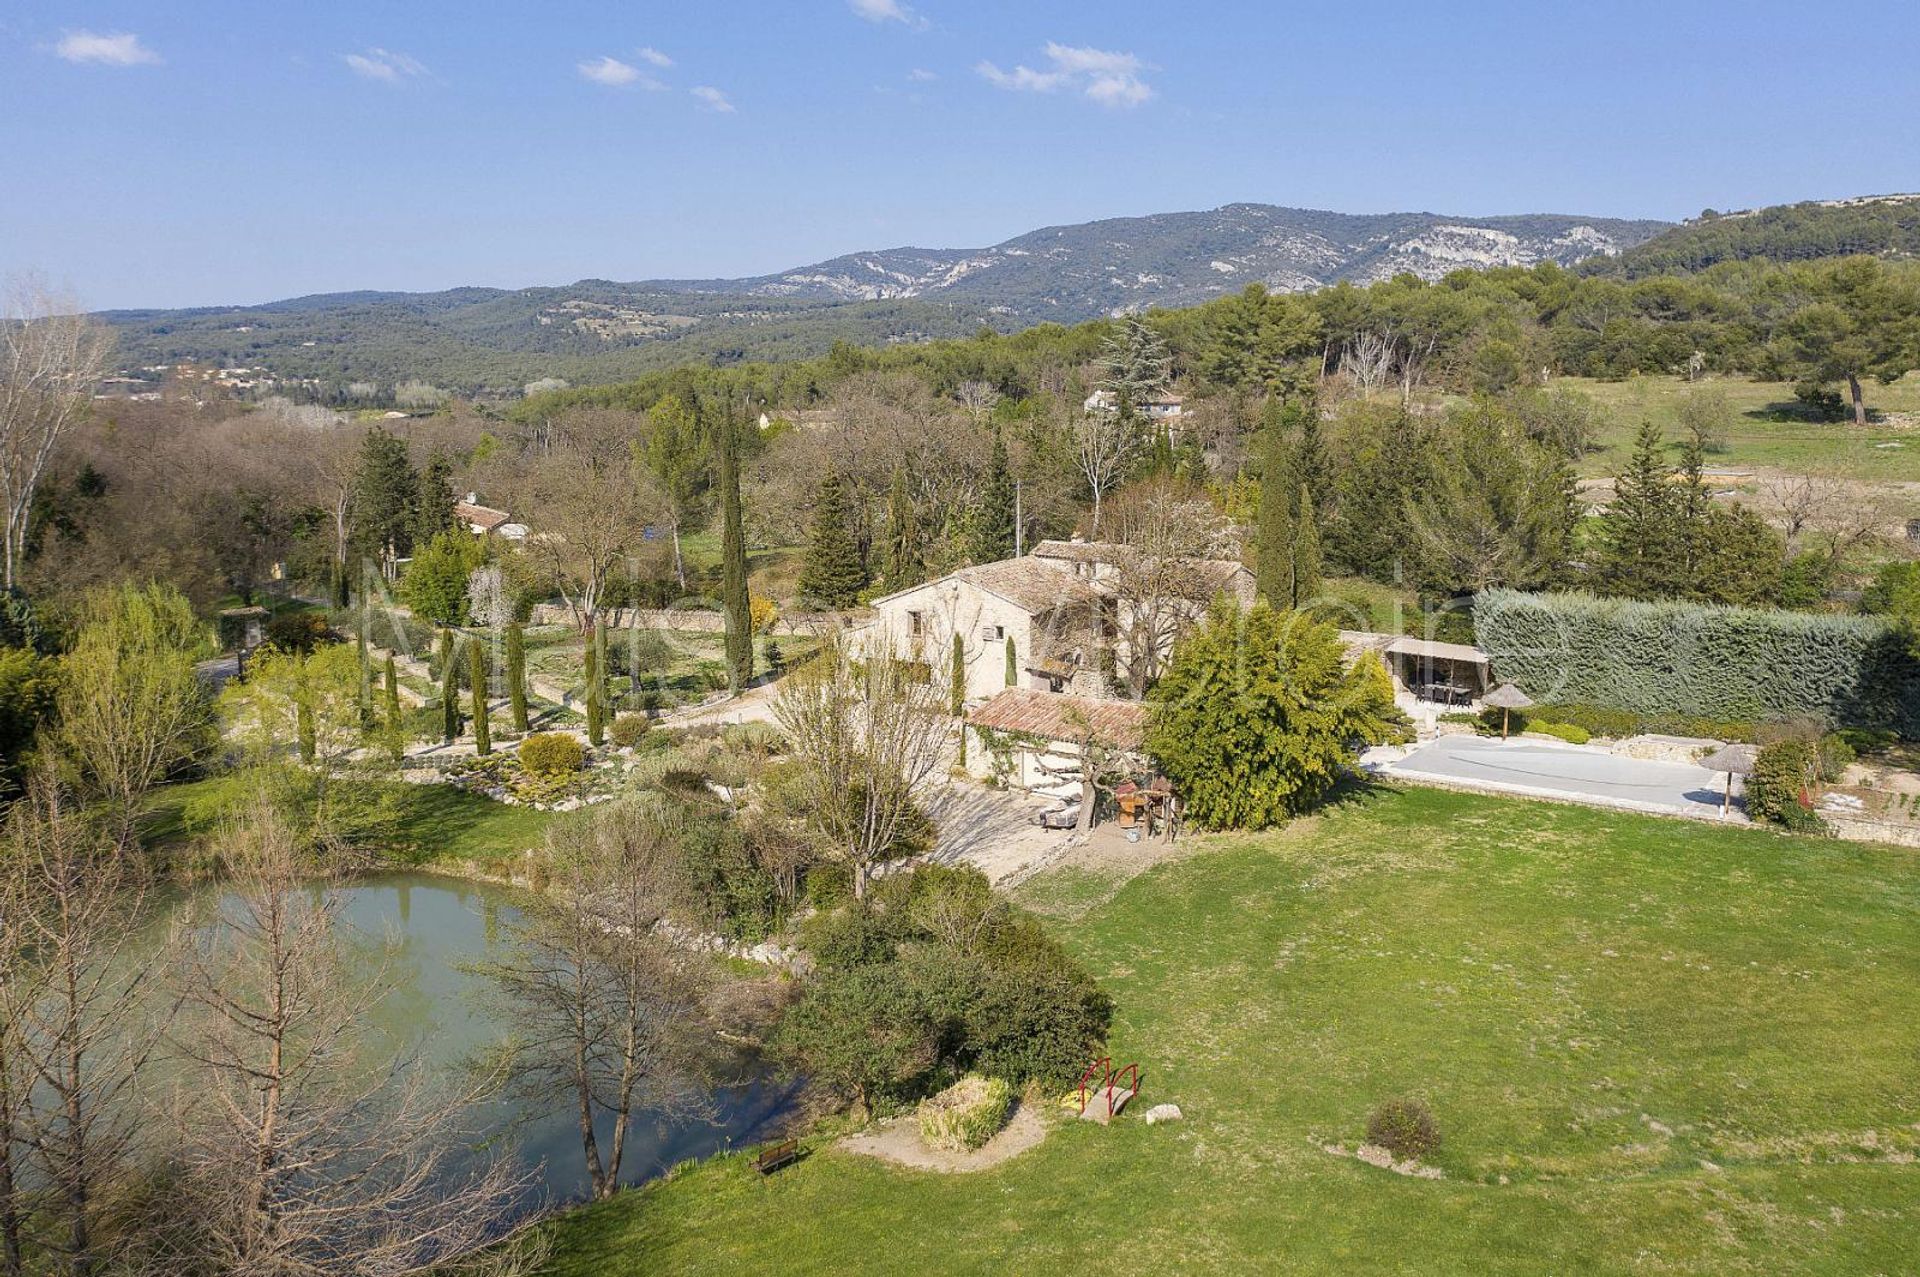
[(35, 1210), (8, 1204), (6, 1242), (12, 1256), (21, 1216), (40, 1221), (40, 1246), (84, 1277), (113, 1260), (102, 1217), (140, 1129), (134, 1089), (157, 1041), (132, 954), (146, 881), (50, 774), (35, 778), (6, 833), (10, 1118), (44, 1185)]

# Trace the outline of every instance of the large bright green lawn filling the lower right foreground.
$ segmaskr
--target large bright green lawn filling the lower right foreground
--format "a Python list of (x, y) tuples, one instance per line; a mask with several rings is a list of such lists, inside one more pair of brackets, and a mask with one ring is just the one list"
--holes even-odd
[[(977, 1175), (818, 1143), (566, 1217), (551, 1273), (1891, 1273), (1920, 853), (1444, 791), (1025, 889), (1140, 1106)], [(1352, 1148), (1425, 1098), (1442, 1179)]]

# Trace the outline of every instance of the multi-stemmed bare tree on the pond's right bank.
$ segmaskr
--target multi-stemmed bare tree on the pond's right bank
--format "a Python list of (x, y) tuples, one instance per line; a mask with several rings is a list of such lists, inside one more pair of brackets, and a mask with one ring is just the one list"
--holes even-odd
[(626, 803), (557, 826), (545, 853), (551, 889), (526, 903), (507, 956), (484, 972), (518, 1025), (516, 1089), (574, 1110), (593, 1196), (607, 1198), (639, 1108), (705, 1106), (699, 956), (668, 918), (678, 828), (668, 810)]

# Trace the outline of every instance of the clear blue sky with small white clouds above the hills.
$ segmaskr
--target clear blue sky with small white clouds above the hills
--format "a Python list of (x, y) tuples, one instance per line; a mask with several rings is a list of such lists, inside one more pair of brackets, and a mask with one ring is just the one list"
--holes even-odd
[(0, 8), (0, 273), (92, 307), (755, 275), (1236, 200), (1920, 188), (1920, 4)]

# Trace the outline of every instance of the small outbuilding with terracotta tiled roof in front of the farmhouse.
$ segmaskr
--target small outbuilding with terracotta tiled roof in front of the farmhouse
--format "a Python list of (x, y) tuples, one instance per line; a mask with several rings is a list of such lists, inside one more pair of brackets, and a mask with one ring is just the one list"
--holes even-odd
[[(1125, 755), (1131, 770), (1146, 766), (1146, 707), (1006, 687), (966, 718), (979, 749), (968, 751), (975, 770), (1018, 789), (1075, 801), (1081, 797), (1081, 749), (1094, 743)], [(989, 749), (989, 741), (996, 749)]]

